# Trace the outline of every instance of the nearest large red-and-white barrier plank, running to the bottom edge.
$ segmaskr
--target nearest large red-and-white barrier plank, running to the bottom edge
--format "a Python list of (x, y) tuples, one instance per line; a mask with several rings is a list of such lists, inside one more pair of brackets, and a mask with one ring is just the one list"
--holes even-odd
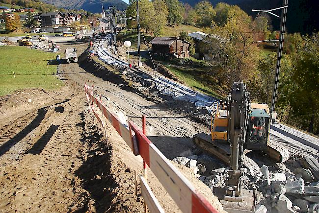
[(217, 213), (132, 121), (129, 121), (129, 127), (135, 132), (139, 154), (183, 213)]

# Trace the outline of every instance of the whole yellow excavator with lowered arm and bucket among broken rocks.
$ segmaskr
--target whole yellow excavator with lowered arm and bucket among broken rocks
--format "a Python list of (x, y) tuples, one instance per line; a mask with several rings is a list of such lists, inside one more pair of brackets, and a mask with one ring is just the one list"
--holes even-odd
[(227, 100), (214, 105), (211, 136), (199, 133), (194, 136), (193, 142), (231, 168), (228, 171), (227, 187), (214, 189), (214, 194), (223, 200), (221, 203), (224, 210), (254, 211), (255, 192), (241, 189), (240, 177), (244, 171), (243, 166), (246, 166), (251, 174), (259, 173), (260, 168), (246, 154), (252, 150), (261, 150), (281, 163), (289, 159), (289, 151), (274, 142), (269, 142), (268, 105), (251, 103), (243, 82), (234, 82)]

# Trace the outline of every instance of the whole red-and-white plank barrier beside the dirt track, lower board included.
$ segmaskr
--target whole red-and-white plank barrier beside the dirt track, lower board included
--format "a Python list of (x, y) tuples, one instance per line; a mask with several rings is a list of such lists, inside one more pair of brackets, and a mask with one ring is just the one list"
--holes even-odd
[[(89, 99), (98, 106), (103, 115), (106, 116), (116, 131), (133, 150), (133, 153), (142, 156), (145, 163), (151, 168), (162, 186), (167, 190), (183, 213), (217, 213), (217, 210), (194, 188), (184, 175), (172, 165), (160, 150), (137, 129), (132, 121), (129, 121), (129, 127), (121, 123), (90, 93), (86, 85), (84, 88)], [(102, 120), (100, 122), (102, 122)], [(144, 189), (142, 189), (144, 191), (143, 198), (145, 202), (148, 202), (147, 205), (154, 208), (155, 212), (161, 212), (162, 209), (156, 198), (151, 196), (153, 194), (152, 191), (146, 188), (146, 186), (148, 186), (146, 181), (141, 183), (141, 185), (144, 187)]]

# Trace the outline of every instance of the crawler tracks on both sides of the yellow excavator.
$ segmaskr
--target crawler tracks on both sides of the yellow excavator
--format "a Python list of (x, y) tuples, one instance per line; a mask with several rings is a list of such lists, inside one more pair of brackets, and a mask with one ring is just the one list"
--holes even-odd
[[(224, 141), (212, 141), (211, 135), (205, 133), (198, 133), (194, 135), (193, 142), (204, 149), (205, 151), (209, 152), (213, 156), (216, 156), (225, 164), (229, 165), (230, 163), (230, 145)], [(242, 164), (249, 169), (251, 174), (257, 174), (260, 172), (260, 168), (258, 164), (247, 157), (247, 154), (251, 150), (245, 150), (244, 154), (241, 155)], [(287, 161), (290, 157), (289, 151), (279, 145), (276, 142), (269, 142), (268, 146), (264, 150), (264, 152), (274, 161), (278, 163), (283, 163)]]

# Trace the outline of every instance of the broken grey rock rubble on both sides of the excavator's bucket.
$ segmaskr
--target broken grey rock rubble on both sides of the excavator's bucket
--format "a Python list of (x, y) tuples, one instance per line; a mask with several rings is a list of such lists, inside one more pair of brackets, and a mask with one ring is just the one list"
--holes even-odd
[[(177, 157), (173, 161), (189, 167), (195, 176), (210, 189), (225, 187), (229, 168), (221, 167), (207, 171), (198, 161), (201, 156)], [(276, 164), (274, 172), (261, 166), (260, 173), (246, 173), (241, 177), (244, 188), (254, 186), (258, 191), (256, 207), (258, 213), (319, 213), (319, 182), (311, 183), (314, 177), (310, 170), (295, 168), (293, 172), (283, 164)], [(210, 176), (204, 176), (203, 174)]]

